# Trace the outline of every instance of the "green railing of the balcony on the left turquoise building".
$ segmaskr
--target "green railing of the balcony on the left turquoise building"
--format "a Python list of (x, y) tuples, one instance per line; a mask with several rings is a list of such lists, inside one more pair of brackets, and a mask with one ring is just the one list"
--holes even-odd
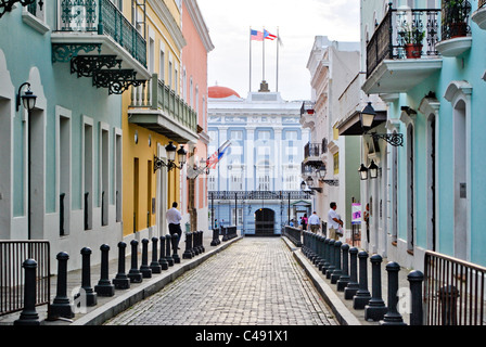
[(146, 67), (145, 39), (110, 0), (59, 0), (57, 30), (107, 35)]

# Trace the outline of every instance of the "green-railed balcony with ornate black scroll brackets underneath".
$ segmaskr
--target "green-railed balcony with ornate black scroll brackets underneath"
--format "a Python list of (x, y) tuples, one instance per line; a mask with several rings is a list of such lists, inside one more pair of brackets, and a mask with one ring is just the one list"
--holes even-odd
[(150, 78), (145, 39), (110, 0), (59, 0), (51, 42), (53, 62), (71, 62), (72, 73), (93, 77), (110, 93)]

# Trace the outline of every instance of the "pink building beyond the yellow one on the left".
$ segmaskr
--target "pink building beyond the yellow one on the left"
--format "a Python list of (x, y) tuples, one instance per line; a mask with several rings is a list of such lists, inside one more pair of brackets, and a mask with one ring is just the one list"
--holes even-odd
[(207, 230), (207, 176), (202, 170), (208, 157), (207, 144), (207, 54), (214, 49), (208, 29), (196, 0), (182, 1), (182, 97), (197, 113), (199, 140), (188, 145), (187, 206), (191, 231)]

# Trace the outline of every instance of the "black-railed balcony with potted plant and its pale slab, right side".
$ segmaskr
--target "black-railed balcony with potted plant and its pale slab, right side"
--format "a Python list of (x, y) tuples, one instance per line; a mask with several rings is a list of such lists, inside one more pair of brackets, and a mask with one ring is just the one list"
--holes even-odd
[(367, 43), (366, 93), (405, 92), (442, 68), (440, 9), (393, 9)]

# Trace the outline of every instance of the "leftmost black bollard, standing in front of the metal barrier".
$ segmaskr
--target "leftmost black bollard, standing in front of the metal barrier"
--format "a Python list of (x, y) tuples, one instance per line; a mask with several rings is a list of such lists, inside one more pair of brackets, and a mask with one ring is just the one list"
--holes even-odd
[(36, 311), (36, 270), (37, 261), (27, 259), (22, 264), (25, 270), (24, 279), (24, 309), (21, 317), (13, 322), (14, 325), (40, 325), (39, 314)]

